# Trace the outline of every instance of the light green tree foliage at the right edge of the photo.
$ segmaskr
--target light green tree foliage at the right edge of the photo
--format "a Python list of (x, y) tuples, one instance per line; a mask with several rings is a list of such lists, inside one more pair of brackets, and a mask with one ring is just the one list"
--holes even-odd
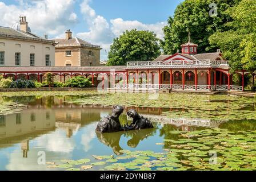
[(227, 9), (226, 14), (233, 18), (226, 24), (230, 30), (215, 32), (209, 38), (210, 43), (221, 48), (223, 57), (229, 60), (231, 72), (245, 69), (253, 75), (256, 70), (256, 1), (242, 0)]

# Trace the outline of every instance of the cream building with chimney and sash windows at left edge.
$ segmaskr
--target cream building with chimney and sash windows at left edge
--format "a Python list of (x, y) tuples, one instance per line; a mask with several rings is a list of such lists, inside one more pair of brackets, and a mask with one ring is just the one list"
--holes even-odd
[(25, 16), (13, 27), (0, 26), (0, 66), (55, 65), (55, 42), (31, 33)]

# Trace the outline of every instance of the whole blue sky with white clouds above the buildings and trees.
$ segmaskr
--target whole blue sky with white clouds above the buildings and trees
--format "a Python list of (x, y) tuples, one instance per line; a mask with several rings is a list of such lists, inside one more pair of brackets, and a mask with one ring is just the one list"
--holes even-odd
[(27, 16), (31, 30), (49, 38), (61, 38), (67, 29), (74, 36), (103, 48), (107, 59), (113, 39), (125, 30), (150, 30), (163, 37), (162, 28), (182, 0), (0, 0), (0, 26)]

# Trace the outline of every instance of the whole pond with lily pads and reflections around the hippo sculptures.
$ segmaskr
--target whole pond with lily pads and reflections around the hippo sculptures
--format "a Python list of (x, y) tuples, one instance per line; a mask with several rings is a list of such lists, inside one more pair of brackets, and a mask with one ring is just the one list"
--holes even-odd
[[(0, 104), (0, 170), (256, 169), (255, 98), (17, 92)], [(115, 104), (154, 129), (95, 133)]]

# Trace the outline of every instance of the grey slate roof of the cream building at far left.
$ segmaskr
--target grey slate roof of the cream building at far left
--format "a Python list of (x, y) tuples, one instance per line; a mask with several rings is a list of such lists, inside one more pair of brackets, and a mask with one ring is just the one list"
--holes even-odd
[(45, 42), (45, 43), (51, 43), (51, 44), (54, 43), (52, 40), (43, 39), (31, 32), (23, 32), (23, 31), (15, 30), (10, 27), (2, 27), (2, 26), (0, 26), (0, 38), (33, 40), (37, 42)]

